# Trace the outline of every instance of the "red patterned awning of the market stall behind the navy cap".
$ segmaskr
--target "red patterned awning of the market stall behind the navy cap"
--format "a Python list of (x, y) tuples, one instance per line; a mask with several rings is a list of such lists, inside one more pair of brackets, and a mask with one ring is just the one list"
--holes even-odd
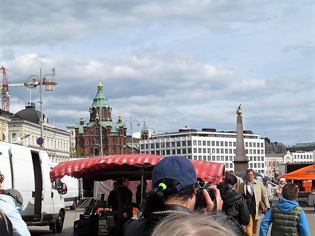
[[(87, 178), (95, 181), (128, 177), (140, 180), (142, 174), (151, 178), (154, 166), (164, 156), (153, 154), (126, 154), (98, 156), (59, 163), (50, 172), (51, 181), (63, 176)], [(218, 184), (225, 172), (223, 163), (190, 160), (196, 169), (197, 177)]]

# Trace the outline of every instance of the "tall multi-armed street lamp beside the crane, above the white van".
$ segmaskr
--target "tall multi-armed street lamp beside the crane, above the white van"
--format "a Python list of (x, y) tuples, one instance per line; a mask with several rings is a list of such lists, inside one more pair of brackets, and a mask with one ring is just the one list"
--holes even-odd
[[(55, 70), (53, 70), (53, 74), (55, 73)], [(55, 74), (54, 74), (55, 75)], [(53, 79), (52, 80), (46, 80), (46, 76), (51, 76)], [(43, 94), (43, 85), (45, 86), (45, 91), (53, 91), (54, 90), (54, 87), (56, 85), (58, 85), (56, 82), (55, 82), (55, 77), (53, 75), (44, 75), (43, 77), (41, 76), (41, 69), (40, 69), (40, 73), (39, 73), (39, 77), (37, 75), (31, 75), (28, 80), (31, 78), (31, 77), (36, 77), (38, 81), (36, 80), (33, 80), (32, 83), (29, 83), (30, 86), (37, 86), (38, 84), (40, 85), (39, 87), (39, 94), (40, 94), (40, 137), (43, 138), (44, 136), (44, 122), (43, 122), (43, 102), (42, 102), (42, 94)]]

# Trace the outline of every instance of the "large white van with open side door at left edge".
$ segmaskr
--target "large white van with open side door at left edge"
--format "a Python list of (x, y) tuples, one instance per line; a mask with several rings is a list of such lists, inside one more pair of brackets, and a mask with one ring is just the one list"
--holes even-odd
[(60, 180), (51, 183), (51, 168), (46, 151), (0, 142), (1, 189), (13, 188), (22, 194), (22, 218), (28, 226), (49, 225), (54, 233), (61, 233), (65, 216), (61, 194), (66, 193), (66, 185)]

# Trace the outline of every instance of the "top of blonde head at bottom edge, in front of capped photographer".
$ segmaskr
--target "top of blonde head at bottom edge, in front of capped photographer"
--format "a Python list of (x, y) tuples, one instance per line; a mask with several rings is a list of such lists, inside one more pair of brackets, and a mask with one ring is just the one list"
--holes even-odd
[(154, 229), (152, 236), (236, 236), (211, 216), (171, 214)]

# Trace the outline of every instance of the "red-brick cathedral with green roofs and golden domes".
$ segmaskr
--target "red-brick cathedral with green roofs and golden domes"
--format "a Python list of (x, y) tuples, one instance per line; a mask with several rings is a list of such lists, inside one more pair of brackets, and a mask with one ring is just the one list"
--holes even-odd
[[(117, 122), (113, 121), (112, 108), (103, 94), (103, 85), (100, 80), (89, 112), (89, 122), (81, 116), (74, 126), (77, 151), (81, 148), (84, 150), (84, 155), (90, 156), (101, 155), (100, 148), (103, 148), (103, 155), (132, 152), (131, 147), (126, 144), (127, 127), (121, 115)], [(102, 147), (100, 137), (102, 137)]]

